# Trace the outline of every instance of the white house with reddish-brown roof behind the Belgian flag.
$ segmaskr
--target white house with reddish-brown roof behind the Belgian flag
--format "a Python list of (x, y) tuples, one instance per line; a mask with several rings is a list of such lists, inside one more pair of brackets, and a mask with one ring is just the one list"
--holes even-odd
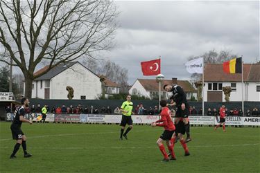
[(243, 84), (241, 74), (226, 74), (223, 64), (205, 65), (204, 97), (206, 102), (225, 102), (223, 86), (231, 86), (230, 101), (260, 101), (260, 63), (243, 64)]

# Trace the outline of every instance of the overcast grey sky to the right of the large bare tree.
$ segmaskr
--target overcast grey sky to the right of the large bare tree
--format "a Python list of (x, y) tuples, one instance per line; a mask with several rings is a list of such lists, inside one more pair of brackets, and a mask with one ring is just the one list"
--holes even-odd
[[(161, 55), (166, 78), (189, 79), (192, 55), (232, 50), (259, 60), (259, 1), (115, 1), (121, 11), (116, 47), (106, 56), (128, 69), (129, 83), (148, 78), (140, 62)], [(150, 77), (155, 78), (155, 77)]]

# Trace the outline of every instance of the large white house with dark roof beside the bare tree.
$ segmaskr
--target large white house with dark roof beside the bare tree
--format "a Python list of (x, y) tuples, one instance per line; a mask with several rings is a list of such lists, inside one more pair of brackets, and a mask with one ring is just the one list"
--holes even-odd
[[(48, 66), (35, 72), (34, 75), (46, 71)], [(71, 86), (74, 90), (73, 99), (96, 99), (101, 94), (101, 82), (98, 75), (89, 71), (80, 62), (59, 64), (49, 72), (33, 81), (32, 98), (68, 99), (66, 90)]]

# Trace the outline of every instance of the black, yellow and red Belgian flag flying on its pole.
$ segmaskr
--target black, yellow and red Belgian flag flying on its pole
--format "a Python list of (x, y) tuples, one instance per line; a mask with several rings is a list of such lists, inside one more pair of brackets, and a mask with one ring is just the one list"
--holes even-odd
[(242, 57), (223, 62), (223, 71), (225, 73), (242, 73)]

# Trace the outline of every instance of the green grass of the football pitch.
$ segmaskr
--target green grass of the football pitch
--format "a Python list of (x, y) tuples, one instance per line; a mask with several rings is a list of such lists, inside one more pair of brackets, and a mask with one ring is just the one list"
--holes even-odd
[(119, 125), (24, 123), (28, 152), (10, 160), (15, 140), (0, 123), (0, 172), (260, 172), (260, 128), (191, 127), (191, 156), (177, 143), (177, 161), (162, 163), (155, 141), (161, 127), (135, 125), (119, 140)]

